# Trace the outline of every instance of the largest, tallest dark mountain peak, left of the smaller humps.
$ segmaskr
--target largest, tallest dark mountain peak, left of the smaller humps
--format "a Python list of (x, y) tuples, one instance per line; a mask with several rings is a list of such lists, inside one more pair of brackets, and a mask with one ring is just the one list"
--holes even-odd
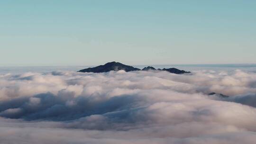
[(83, 69), (78, 72), (110, 72), (110, 71), (119, 71), (119, 70), (124, 70), (125, 72), (140, 71), (140, 69), (134, 68), (129, 65), (125, 65), (117, 62), (110, 62), (110, 63), (106, 63), (104, 65), (96, 66), (93, 68)]

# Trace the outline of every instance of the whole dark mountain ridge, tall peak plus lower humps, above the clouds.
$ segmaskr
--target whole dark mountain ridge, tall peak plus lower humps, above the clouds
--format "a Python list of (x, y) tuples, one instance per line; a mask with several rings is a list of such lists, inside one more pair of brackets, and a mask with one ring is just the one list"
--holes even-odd
[[(122, 63), (118, 63), (118, 62), (110, 62), (110, 63), (106, 63), (104, 65), (99, 65), (99, 66), (96, 66), (93, 68), (83, 69), (78, 72), (96, 72), (96, 73), (98, 73), (98, 72), (110, 72), (110, 71), (119, 71), (119, 70), (124, 70), (125, 72), (140, 71), (140, 69), (129, 66), (129, 65), (125, 65)], [(149, 70), (156, 70), (156, 69), (152, 66), (148, 66), (148, 67), (145, 67), (144, 69), (142, 69), (142, 71), (149, 71)], [(190, 72), (186, 72), (186, 71), (175, 69), (175, 68), (157, 69), (157, 70), (158, 71), (167, 71), (167, 72), (171, 72), (171, 73), (175, 73), (175, 74), (190, 73)]]

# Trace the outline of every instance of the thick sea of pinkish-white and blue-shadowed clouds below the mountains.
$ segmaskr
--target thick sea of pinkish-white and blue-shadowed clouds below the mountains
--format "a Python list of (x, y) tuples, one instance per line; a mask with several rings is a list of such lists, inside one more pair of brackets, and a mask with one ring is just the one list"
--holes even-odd
[(0, 144), (256, 144), (256, 73), (0, 74)]

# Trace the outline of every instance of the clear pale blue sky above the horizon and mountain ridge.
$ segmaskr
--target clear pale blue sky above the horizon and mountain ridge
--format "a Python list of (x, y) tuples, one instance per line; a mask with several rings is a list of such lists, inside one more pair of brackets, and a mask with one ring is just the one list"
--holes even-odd
[(256, 63), (256, 0), (1, 0), (0, 66)]

